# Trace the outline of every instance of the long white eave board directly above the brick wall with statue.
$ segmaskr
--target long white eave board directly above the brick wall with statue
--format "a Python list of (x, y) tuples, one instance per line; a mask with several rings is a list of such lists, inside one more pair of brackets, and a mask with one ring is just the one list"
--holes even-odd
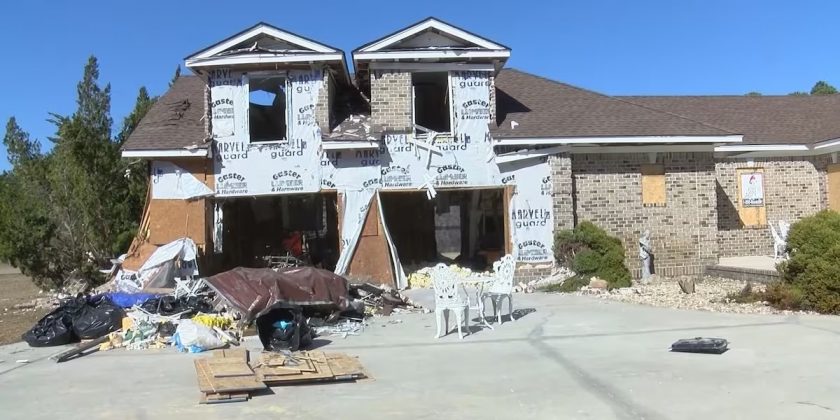
[(494, 146), (547, 146), (563, 144), (700, 144), (740, 143), (743, 136), (631, 136), (631, 137), (554, 137), (554, 138), (500, 138), (493, 139)]

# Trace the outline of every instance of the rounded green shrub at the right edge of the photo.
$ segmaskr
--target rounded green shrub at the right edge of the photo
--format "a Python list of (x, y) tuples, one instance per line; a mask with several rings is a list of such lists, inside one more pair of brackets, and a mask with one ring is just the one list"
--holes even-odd
[[(790, 258), (779, 264), (779, 305), (840, 313), (840, 213), (821, 211), (791, 226)], [(776, 306), (773, 301), (768, 301)]]

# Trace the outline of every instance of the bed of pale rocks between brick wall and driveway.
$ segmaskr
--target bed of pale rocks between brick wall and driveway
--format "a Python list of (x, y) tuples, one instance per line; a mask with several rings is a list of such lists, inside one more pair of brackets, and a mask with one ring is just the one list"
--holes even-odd
[[(660, 306), (676, 309), (693, 309), (711, 312), (728, 312), (743, 314), (789, 314), (792, 311), (782, 311), (769, 306), (766, 302), (737, 303), (730, 301), (727, 296), (743, 290), (747, 282), (722, 279), (717, 277), (703, 277), (694, 282), (694, 293), (683, 293), (680, 280), (691, 278), (683, 276), (675, 279), (658, 278), (649, 284), (637, 284), (632, 287), (605, 290), (584, 286), (575, 292), (580, 296), (593, 296), (599, 299), (619, 302), (637, 303), (642, 305)], [(694, 280), (693, 278), (691, 278)], [(753, 284), (755, 291), (764, 290), (765, 286)]]

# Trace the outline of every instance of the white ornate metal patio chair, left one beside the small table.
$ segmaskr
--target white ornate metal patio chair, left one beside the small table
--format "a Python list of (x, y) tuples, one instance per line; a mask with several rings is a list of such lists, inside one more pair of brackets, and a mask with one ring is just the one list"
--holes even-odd
[(461, 325), (463, 324), (469, 332), (470, 302), (467, 291), (446, 264), (436, 265), (431, 270), (431, 277), (435, 289), (435, 319), (437, 321), (435, 338), (441, 337), (441, 321), (444, 324), (444, 333), (449, 333), (449, 312), (452, 311), (455, 312), (455, 318), (458, 322), (458, 337), (463, 339), (464, 333), (461, 331)]

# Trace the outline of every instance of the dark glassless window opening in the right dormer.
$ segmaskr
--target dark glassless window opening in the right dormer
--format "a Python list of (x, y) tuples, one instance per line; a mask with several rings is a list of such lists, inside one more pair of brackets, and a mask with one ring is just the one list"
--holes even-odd
[(414, 124), (438, 133), (451, 131), (449, 73), (423, 72), (411, 75)]

